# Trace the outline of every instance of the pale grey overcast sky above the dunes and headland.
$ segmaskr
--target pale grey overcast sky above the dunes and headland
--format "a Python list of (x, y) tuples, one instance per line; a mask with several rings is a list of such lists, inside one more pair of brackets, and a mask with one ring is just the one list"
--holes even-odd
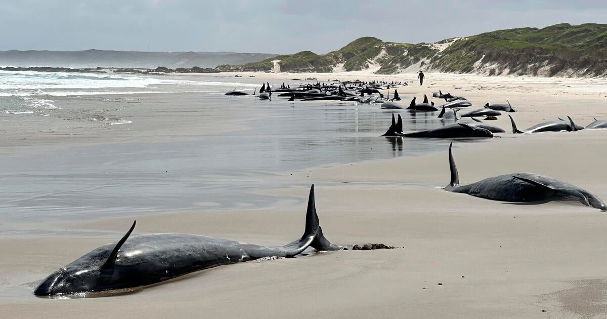
[(435, 42), (607, 23), (607, 1), (2, 0), (0, 50), (327, 53), (361, 36)]

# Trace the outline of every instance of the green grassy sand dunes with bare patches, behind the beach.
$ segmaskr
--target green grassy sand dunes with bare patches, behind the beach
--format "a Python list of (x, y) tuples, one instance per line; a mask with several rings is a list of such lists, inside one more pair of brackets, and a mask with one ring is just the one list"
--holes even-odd
[(416, 72), (484, 75), (607, 76), (607, 24), (557, 24), (481, 33), (437, 43), (391, 43), (359, 38), (325, 55), (302, 51), (221, 70)]

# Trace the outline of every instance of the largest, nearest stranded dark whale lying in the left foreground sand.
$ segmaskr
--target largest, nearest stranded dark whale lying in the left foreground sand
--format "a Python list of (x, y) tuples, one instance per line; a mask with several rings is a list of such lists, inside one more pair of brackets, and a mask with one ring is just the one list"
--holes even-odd
[(137, 288), (236, 262), (268, 256), (293, 257), (308, 247), (342, 249), (322, 235), (314, 205), (314, 185), (310, 189), (304, 235), (284, 246), (265, 247), (180, 233), (129, 238), (134, 228), (135, 223), (117, 243), (101, 246), (61, 267), (42, 281), (34, 294), (57, 296)]

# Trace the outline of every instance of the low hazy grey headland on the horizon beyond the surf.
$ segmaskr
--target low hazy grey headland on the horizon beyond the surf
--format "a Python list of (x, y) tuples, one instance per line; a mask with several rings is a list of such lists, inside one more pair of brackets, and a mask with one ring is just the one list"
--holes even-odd
[(276, 57), (267, 53), (236, 52), (139, 52), (139, 51), (0, 51), (0, 66), (49, 67), (215, 67), (246, 64)]

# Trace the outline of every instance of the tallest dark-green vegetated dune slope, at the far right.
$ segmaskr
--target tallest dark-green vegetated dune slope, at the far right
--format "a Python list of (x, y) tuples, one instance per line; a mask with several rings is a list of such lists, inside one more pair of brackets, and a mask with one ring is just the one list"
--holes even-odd
[[(481, 60), (482, 59), (482, 60)], [(475, 63), (480, 61), (478, 66)], [(556, 24), (537, 28), (497, 30), (453, 43), (431, 61), (446, 72), (473, 72), (482, 65), (496, 65), (489, 74), (545, 75), (566, 70), (579, 75), (605, 75), (607, 24)], [(544, 70), (545, 73), (545, 70)]]

